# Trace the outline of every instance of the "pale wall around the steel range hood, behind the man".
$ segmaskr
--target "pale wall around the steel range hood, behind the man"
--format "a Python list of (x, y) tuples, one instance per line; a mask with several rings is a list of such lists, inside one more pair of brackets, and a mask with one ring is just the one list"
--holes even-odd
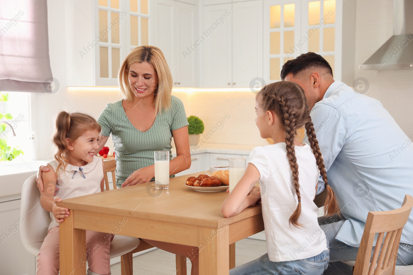
[(357, 65), (363, 64), (393, 35), (393, 13), (393, 0), (356, 1), (354, 78), (363, 77), (370, 82), (370, 90), (366, 95), (378, 99), (409, 135), (413, 134), (413, 71), (375, 72), (357, 69)]

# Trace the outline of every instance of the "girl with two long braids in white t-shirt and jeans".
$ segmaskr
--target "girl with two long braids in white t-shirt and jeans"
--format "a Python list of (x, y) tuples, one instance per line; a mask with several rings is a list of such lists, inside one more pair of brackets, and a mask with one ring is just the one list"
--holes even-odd
[[(255, 123), (261, 137), (274, 144), (255, 147), (242, 179), (223, 202), (225, 217), (261, 199), (268, 253), (230, 270), (230, 275), (318, 275), (328, 267), (328, 240), (318, 225), (313, 200), (321, 174), (327, 184), (303, 89), (294, 82), (266, 85), (256, 95)], [(309, 144), (297, 140), (305, 127)], [(259, 188), (255, 185), (259, 182)], [(339, 213), (330, 186), (325, 212)]]

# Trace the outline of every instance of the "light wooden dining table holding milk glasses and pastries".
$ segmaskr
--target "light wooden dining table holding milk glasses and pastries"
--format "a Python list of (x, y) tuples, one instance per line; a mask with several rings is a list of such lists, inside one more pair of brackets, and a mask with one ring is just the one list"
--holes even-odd
[(228, 193), (185, 186), (189, 176), (199, 174), (204, 172), (170, 178), (166, 190), (150, 182), (57, 202), (70, 211), (59, 225), (60, 274), (86, 273), (85, 230), (93, 230), (193, 246), (185, 256), (199, 253), (200, 275), (228, 275), (235, 267), (235, 242), (264, 230), (261, 204), (225, 218), (221, 204)]

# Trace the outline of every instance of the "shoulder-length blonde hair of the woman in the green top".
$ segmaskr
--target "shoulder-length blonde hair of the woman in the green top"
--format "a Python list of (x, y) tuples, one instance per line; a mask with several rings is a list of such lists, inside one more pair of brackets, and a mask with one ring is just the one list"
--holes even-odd
[(156, 111), (171, 107), (172, 74), (162, 51), (155, 46), (139, 46), (133, 49), (119, 68), (119, 88), (123, 99), (133, 101), (134, 94), (129, 86), (128, 73), (130, 66), (135, 62), (148, 62), (158, 75), (158, 85), (155, 88), (154, 107)]

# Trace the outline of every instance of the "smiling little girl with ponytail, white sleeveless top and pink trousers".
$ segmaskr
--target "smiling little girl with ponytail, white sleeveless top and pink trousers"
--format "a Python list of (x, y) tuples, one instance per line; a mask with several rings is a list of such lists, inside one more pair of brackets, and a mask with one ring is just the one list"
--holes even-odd
[[(50, 225), (37, 256), (36, 274), (59, 274), (59, 223), (70, 214), (58, 207), (62, 199), (103, 191), (104, 163), (95, 155), (101, 127), (90, 115), (66, 113), (57, 115), (53, 143), (57, 147), (55, 159), (47, 163), (43, 172), (44, 188), (40, 205), (50, 212)], [(55, 196), (56, 187), (59, 187)], [(109, 249), (112, 234), (86, 230), (86, 259), (88, 275), (110, 275)], [(83, 263), (85, 264), (85, 263)]]

